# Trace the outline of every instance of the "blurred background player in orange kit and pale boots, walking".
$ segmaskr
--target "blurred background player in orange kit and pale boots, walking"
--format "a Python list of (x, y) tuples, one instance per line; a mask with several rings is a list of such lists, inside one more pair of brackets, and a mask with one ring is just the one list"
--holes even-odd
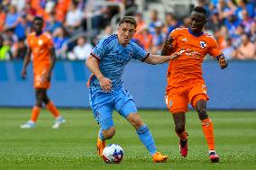
[(40, 114), (42, 103), (55, 117), (53, 129), (58, 129), (60, 124), (64, 123), (63, 116), (47, 96), (47, 89), (50, 87), (50, 75), (56, 60), (54, 46), (50, 34), (42, 31), (43, 19), (35, 17), (32, 22), (33, 32), (28, 35), (28, 51), (23, 62), (23, 78), (26, 77), (26, 68), (28, 67), (32, 56), (32, 67), (34, 76), (34, 88), (36, 104), (32, 108), (31, 120), (21, 126), (22, 129), (35, 128), (35, 123)]

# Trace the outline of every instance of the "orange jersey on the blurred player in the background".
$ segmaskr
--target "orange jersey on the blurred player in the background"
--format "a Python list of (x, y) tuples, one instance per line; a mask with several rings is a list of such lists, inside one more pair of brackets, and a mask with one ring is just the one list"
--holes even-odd
[(38, 67), (50, 67), (50, 49), (53, 47), (50, 34), (43, 32), (37, 37), (35, 32), (32, 32), (27, 40), (29, 47), (32, 49), (34, 71)]

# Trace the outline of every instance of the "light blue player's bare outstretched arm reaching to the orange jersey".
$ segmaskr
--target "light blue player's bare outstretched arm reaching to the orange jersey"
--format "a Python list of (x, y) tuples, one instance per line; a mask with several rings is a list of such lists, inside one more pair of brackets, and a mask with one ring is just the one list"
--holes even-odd
[(160, 55), (151, 54), (149, 58), (145, 59), (145, 62), (148, 64), (156, 65), (156, 64), (165, 63), (169, 60), (178, 58), (178, 56), (180, 55), (181, 55), (180, 52), (175, 52), (170, 56), (160, 56)]

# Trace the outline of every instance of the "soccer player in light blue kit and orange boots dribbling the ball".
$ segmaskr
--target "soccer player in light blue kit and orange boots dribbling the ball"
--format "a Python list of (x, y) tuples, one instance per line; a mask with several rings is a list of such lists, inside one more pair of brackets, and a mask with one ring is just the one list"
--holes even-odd
[(88, 81), (90, 105), (101, 127), (96, 147), (98, 155), (102, 156), (105, 140), (114, 136), (112, 114), (113, 110), (116, 110), (133, 125), (139, 139), (149, 150), (153, 162), (165, 162), (168, 157), (157, 152), (151, 131), (137, 113), (133, 97), (123, 88), (121, 78), (123, 68), (132, 58), (149, 64), (160, 64), (177, 58), (180, 54), (177, 52), (171, 56), (160, 56), (147, 53), (130, 41), (136, 31), (136, 26), (137, 23), (133, 17), (124, 16), (119, 22), (117, 34), (100, 40), (87, 58), (87, 67), (93, 73)]

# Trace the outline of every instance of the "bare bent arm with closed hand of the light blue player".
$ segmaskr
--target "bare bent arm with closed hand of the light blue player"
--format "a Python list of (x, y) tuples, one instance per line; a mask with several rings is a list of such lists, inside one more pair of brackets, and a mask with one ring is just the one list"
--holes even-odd
[(87, 67), (89, 70), (96, 76), (96, 78), (99, 81), (99, 85), (105, 92), (109, 92), (112, 88), (112, 81), (105, 77), (99, 67), (98, 67), (98, 61), (96, 58), (94, 58), (92, 55), (90, 55), (87, 58)]

